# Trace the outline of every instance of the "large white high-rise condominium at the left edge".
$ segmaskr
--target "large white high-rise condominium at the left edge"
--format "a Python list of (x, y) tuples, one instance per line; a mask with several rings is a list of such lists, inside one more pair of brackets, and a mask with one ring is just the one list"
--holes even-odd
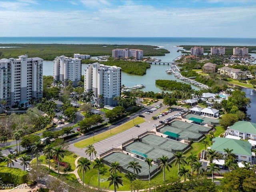
[(31, 98), (38, 100), (43, 96), (43, 59), (18, 58), (0, 60), (0, 100), (6, 106), (28, 105)]

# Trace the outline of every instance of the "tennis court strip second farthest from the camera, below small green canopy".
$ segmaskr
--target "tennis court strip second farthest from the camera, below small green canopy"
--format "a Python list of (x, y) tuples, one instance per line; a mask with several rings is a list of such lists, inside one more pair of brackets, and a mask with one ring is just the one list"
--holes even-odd
[(176, 127), (176, 128), (180, 128), (182, 130), (188, 130), (191, 132), (196, 132), (198, 133), (203, 132), (203, 133), (208, 133), (212, 128), (210, 127), (206, 127), (206, 126), (200, 126), (200, 125), (196, 125), (196, 124), (192, 124), (192, 123), (188, 123), (188, 122), (183, 122), (183, 121), (173, 121), (171, 123), (171, 126)]

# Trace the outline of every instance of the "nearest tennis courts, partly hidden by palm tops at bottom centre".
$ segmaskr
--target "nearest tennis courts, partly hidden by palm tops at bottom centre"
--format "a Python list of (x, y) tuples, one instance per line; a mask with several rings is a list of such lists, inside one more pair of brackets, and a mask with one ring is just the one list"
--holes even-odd
[[(121, 152), (114, 152), (114, 153), (111, 153), (111, 154), (105, 156), (103, 158), (103, 160), (108, 162), (108, 163), (106, 163), (108, 166), (112, 162), (118, 161), (124, 170), (128, 170), (132, 173), (133, 173), (133, 168), (127, 168), (127, 167), (128, 167), (129, 162), (134, 160), (134, 161), (139, 162), (139, 164), (142, 166), (142, 168), (140, 169), (140, 173), (138, 175), (148, 175), (148, 163), (146, 163), (143, 160), (134, 158), (130, 155), (127, 155), (127, 154), (124, 154)], [(158, 166), (152, 164), (152, 167), (150, 167), (150, 172), (153, 172), (157, 168), (158, 168)]]

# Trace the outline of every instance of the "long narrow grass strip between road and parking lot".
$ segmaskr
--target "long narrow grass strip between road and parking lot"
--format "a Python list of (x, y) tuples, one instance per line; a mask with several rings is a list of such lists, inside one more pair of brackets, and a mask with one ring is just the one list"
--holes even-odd
[(78, 147), (78, 148), (84, 148), (84, 147), (86, 147), (86, 146), (88, 146), (90, 144), (94, 144), (94, 143), (99, 142), (101, 140), (104, 140), (104, 139), (106, 139), (108, 137), (116, 135), (116, 134), (118, 134), (120, 132), (123, 132), (123, 131), (125, 131), (127, 129), (130, 129), (130, 128), (132, 128), (134, 126), (134, 124), (141, 124), (144, 121), (145, 121), (144, 118), (136, 117), (136, 118), (134, 118), (134, 122), (133, 122), (133, 120), (130, 120), (130, 121), (126, 122), (125, 124), (122, 124), (122, 125), (114, 128), (114, 129), (112, 129), (111, 130), (111, 134), (110, 134), (110, 130), (108, 130), (108, 131), (106, 131), (106, 132), (104, 132), (102, 134), (95, 135), (94, 138), (90, 137), (88, 139), (85, 139), (85, 140), (82, 140), (80, 142), (77, 142), (77, 143), (74, 144), (74, 146)]

